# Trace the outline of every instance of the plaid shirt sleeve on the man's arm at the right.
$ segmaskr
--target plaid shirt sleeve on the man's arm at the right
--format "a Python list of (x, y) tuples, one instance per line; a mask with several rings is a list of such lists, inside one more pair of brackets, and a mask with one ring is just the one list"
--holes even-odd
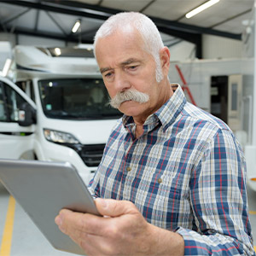
[(191, 171), (193, 229), (177, 228), (184, 255), (255, 255), (247, 210), (246, 164), (236, 138), (218, 130)]

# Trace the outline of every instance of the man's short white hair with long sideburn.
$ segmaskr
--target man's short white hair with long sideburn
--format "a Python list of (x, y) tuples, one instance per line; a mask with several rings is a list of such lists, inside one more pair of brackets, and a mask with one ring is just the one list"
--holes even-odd
[(99, 38), (105, 38), (117, 30), (127, 31), (137, 29), (137, 32), (143, 38), (145, 49), (153, 55), (156, 64), (155, 76), (159, 83), (163, 79), (162, 69), (160, 67), (160, 49), (164, 47), (160, 32), (146, 15), (137, 12), (124, 12), (113, 15), (106, 20), (96, 32), (94, 38), (94, 55), (96, 56), (96, 43)]

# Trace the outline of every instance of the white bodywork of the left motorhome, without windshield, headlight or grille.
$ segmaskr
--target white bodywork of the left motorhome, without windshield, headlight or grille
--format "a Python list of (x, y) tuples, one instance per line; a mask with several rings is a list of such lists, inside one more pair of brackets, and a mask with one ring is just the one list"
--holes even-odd
[[(34, 154), (38, 160), (68, 161), (77, 168), (84, 182), (89, 183), (97, 166), (86, 166), (81, 155), (72, 147), (49, 142), (44, 137), (44, 129), (71, 134), (79, 141), (81, 147), (104, 145), (107, 143), (116, 119), (49, 118), (42, 108), (38, 81), (41, 79), (101, 79), (102, 75), (99, 73), (96, 60), (89, 57), (53, 57), (47, 55), (47, 50), (18, 45), (15, 47), (15, 64), (17, 68), (15, 69), (14, 66), (11, 68), (9, 78), (16, 83), (20, 81), (29, 83), (34, 90), (35, 102), (9, 79), (0, 78), (0, 80), (9, 84), (37, 110), (37, 124), (22, 127), (17, 122), (0, 121), (0, 158), (22, 159), (33, 157)], [(26, 134), (26, 136), (20, 136), (20, 134)]]

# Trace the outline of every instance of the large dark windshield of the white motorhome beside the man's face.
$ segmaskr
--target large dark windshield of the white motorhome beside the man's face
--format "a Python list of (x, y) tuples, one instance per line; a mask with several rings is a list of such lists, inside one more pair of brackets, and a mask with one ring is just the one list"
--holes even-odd
[(38, 81), (44, 114), (52, 119), (116, 119), (102, 79), (48, 79)]

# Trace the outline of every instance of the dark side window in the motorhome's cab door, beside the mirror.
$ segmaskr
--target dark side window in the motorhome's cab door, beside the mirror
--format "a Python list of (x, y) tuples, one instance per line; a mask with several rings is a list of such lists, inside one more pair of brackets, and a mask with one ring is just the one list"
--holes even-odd
[(10, 122), (17, 122), (19, 120), (20, 106), (26, 101), (9, 85), (5, 86), (5, 94), (8, 120)]

